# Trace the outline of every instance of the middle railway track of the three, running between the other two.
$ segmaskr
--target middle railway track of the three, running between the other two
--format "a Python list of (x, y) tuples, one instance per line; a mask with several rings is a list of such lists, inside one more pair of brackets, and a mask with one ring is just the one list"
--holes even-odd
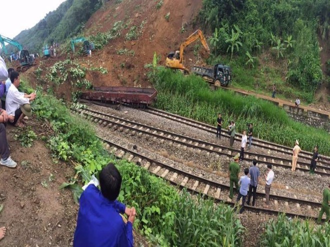
[[(148, 136), (152, 136), (153, 138), (160, 139), (160, 142), (168, 141), (172, 143), (176, 143), (177, 146), (189, 147), (192, 149), (196, 149), (197, 153), (200, 153), (202, 150), (208, 153), (213, 152), (218, 155), (224, 155), (227, 157), (232, 157), (233, 152), (238, 152), (233, 148), (220, 146), (214, 143), (208, 143), (202, 140), (190, 138), (187, 136), (182, 136), (179, 134), (175, 134), (169, 131), (164, 131), (158, 128), (154, 128), (151, 126), (147, 126), (141, 123), (137, 123), (134, 121), (130, 121), (127, 119), (123, 119), (120, 117), (116, 117), (113, 115), (105, 114), (99, 111), (91, 110), (88, 108), (75, 110), (81, 115), (86, 116), (91, 119), (95, 123), (98, 122), (103, 126), (108, 126), (108, 128), (113, 127), (114, 129), (119, 129), (119, 131), (123, 131), (123, 129), (128, 129), (132, 131), (132, 134), (140, 133)], [(264, 154), (256, 154), (251, 152), (245, 152), (244, 160), (252, 161), (253, 159), (257, 159), (259, 164), (272, 164), (273, 166), (282, 167), (291, 169), (289, 159), (283, 159), (278, 157), (272, 157)], [(276, 161), (276, 162), (275, 162)], [(297, 164), (296, 170), (301, 170), (304, 172), (309, 171), (308, 163), (299, 162)], [(329, 166), (318, 166), (318, 169), (315, 171), (316, 174), (322, 176), (330, 176), (330, 167)]]

